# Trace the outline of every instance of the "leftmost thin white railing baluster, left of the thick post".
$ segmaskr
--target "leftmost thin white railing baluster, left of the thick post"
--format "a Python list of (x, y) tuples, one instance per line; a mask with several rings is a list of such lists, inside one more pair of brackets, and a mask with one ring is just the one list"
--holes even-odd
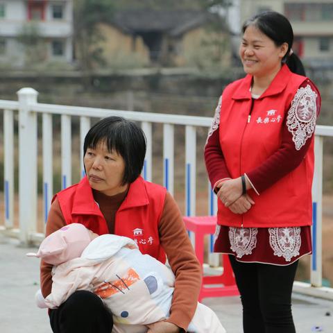
[(3, 112), (5, 227), (14, 226), (14, 112)]

